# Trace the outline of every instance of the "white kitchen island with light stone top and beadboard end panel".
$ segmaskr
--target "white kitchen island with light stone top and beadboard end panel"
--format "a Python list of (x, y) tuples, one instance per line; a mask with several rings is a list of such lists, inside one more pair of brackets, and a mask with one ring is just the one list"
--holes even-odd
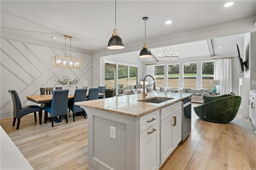
[(142, 94), (77, 102), (88, 115), (89, 169), (159, 169), (181, 141), (181, 101), (192, 95), (146, 96), (167, 100), (161, 103), (139, 101)]

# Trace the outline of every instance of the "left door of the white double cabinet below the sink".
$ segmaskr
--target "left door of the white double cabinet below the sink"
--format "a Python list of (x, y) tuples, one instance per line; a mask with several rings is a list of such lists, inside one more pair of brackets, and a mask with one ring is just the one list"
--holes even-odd
[(160, 122), (161, 164), (163, 164), (172, 153), (172, 119), (172, 116), (170, 116)]

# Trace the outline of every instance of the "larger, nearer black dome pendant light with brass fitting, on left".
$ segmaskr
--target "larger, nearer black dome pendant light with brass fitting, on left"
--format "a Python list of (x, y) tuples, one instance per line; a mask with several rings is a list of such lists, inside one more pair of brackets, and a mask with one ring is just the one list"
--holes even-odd
[[(115, 7), (116, 7), (116, 1), (115, 1)], [(115, 8), (115, 29), (114, 34), (112, 34), (112, 37), (108, 41), (108, 49), (123, 49), (124, 48), (124, 42), (119, 37), (119, 34), (117, 34), (116, 29), (116, 8)]]

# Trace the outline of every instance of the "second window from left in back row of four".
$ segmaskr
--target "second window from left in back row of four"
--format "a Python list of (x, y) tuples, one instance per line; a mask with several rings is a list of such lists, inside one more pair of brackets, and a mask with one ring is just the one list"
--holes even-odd
[(168, 86), (179, 87), (180, 64), (168, 65)]

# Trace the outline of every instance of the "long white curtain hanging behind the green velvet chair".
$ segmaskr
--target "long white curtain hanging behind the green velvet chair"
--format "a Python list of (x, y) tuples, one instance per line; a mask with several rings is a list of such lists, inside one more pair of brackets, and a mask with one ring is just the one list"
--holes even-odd
[(216, 92), (230, 93), (232, 91), (231, 59), (217, 59), (214, 71), (214, 80), (220, 81), (220, 85), (216, 85)]

